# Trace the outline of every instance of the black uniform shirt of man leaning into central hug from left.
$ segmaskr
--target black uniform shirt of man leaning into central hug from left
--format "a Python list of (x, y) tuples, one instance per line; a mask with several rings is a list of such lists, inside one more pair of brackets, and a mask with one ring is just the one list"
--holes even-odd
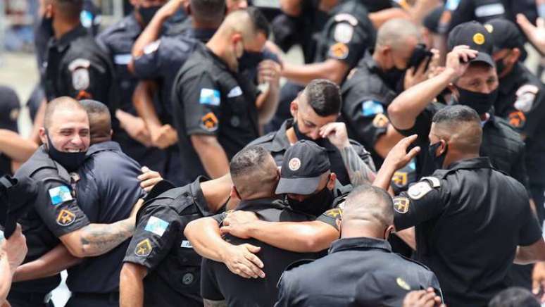
[(202, 306), (201, 256), (185, 226), (210, 215), (201, 189), (203, 177), (146, 201), (123, 262), (144, 265), (144, 306)]

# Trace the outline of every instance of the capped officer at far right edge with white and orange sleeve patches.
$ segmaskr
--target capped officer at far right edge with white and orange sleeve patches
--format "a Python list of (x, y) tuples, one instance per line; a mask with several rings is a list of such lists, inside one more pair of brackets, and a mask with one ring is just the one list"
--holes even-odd
[(530, 192), (536, 203), (539, 220), (545, 218), (545, 87), (536, 75), (520, 61), (524, 49), (522, 33), (515, 24), (504, 19), (490, 20), (484, 25), (494, 37), (499, 76), (496, 115), (509, 120), (526, 143), (526, 166), (530, 177)]

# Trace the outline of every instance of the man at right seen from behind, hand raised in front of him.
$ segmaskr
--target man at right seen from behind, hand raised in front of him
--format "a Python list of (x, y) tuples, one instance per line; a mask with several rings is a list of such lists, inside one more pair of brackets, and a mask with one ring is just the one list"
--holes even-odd
[[(435, 113), (430, 154), (439, 170), (394, 198), (396, 231), (415, 226), (417, 259), (437, 274), (449, 306), (484, 306), (510, 286), (513, 261), (545, 258), (525, 187), (479, 155), (481, 125), (480, 115), (468, 106)], [(407, 153), (416, 138), (407, 137), (390, 151), (377, 186), (387, 187), (395, 170), (420, 150)]]

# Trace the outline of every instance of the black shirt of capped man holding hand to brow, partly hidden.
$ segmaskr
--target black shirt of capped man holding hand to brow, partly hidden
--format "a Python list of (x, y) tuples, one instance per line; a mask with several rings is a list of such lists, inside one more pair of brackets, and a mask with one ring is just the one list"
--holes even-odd
[[(432, 127), (433, 115), (441, 108), (444, 108), (444, 104), (432, 103), (428, 105), (418, 115), (415, 125), (411, 129), (398, 130), (405, 136), (418, 134), (415, 145), (422, 149), (417, 156), (418, 178), (431, 175), (435, 170), (427, 146), (430, 146), (428, 136)], [(490, 115), (489, 120), (484, 123), (480, 155), (489, 157), (494, 168), (507, 173), (528, 187), (525, 144), (520, 139), (520, 135), (503, 118)]]

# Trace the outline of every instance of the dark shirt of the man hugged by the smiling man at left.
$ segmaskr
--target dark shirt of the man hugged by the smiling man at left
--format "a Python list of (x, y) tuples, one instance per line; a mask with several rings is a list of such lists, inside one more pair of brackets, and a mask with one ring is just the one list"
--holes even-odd
[[(137, 178), (140, 165), (115, 142), (93, 144), (77, 173), (77, 200), (91, 223), (111, 224), (128, 218), (134, 203), (144, 196)], [(118, 291), (119, 274), (129, 240), (101, 256), (86, 258), (68, 269), (71, 292)]]

